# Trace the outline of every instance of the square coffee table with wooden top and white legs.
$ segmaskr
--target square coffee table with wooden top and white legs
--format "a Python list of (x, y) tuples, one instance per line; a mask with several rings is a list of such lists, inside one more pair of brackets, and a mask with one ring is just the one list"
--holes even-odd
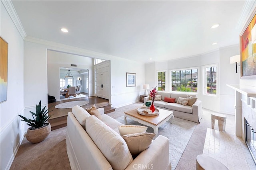
[(154, 129), (154, 133), (156, 133), (156, 136), (158, 134), (158, 127), (166, 123), (170, 119), (170, 122), (172, 123), (172, 120), (174, 119), (173, 111), (168, 111), (164, 109), (159, 109), (159, 115), (156, 116), (144, 116), (137, 113), (137, 109), (130, 110), (124, 112), (124, 121), (127, 125), (127, 117), (130, 119), (137, 121), (143, 125), (152, 127)]

